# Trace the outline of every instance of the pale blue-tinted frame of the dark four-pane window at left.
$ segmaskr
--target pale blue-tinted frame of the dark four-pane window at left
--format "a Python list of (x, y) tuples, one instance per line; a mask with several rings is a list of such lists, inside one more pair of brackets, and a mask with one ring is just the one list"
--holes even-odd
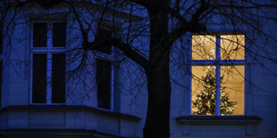
[[(64, 20), (51, 20), (51, 21), (32, 21), (31, 22), (31, 41), (30, 41), (30, 94), (29, 94), (29, 103), (30, 104), (38, 104), (38, 105), (63, 105), (64, 103), (52, 103), (52, 54), (53, 53), (65, 53), (67, 51), (67, 46), (64, 47), (54, 47), (53, 46), (53, 23), (54, 22), (65, 22)], [(47, 24), (47, 38), (46, 38), (46, 47), (34, 47), (33, 46), (33, 27), (34, 23), (46, 23)], [(67, 25), (66, 25), (67, 26)], [(67, 29), (67, 28), (66, 28)], [(67, 34), (66, 34), (65, 42), (67, 42)], [(66, 44), (66, 43), (65, 43)], [(32, 78), (33, 78), (33, 54), (34, 53), (46, 53), (46, 103), (33, 103), (32, 101)], [(67, 61), (67, 56), (65, 55), (65, 63)], [(65, 70), (67, 68), (65, 67)], [(66, 84), (65, 84), (66, 89)], [(66, 92), (66, 90), (65, 90)], [(65, 93), (66, 97), (66, 93)]]

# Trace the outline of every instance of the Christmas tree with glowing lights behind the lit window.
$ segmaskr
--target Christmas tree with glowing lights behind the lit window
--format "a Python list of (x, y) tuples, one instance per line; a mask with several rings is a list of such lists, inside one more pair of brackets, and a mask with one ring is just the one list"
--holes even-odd
[[(222, 81), (223, 77), (221, 78)], [(197, 94), (197, 100), (192, 101), (192, 114), (214, 115), (215, 114), (215, 67), (208, 67), (206, 77), (202, 77), (202, 90)], [(229, 101), (229, 94), (225, 93), (226, 86), (221, 87), (220, 112), (222, 115), (231, 115), (234, 110), (234, 102)]]

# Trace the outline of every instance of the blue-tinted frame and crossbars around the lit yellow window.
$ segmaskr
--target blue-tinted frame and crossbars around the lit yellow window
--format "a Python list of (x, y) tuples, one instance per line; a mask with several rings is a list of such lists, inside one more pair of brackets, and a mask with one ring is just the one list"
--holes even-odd
[[(221, 60), (221, 36), (224, 35), (243, 35), (245, 37), (245, 45), (244, 45), (244, 60)], [(192, 36), (214, 36), (215, 37), (215, 59), (214, 60), (192, 60)], [(187, 116), (246, 116), (248, 114), (248, 45), (247, 45), (247, 34), (246, 32), (202, 32), (202, 33), (191, 33), (190, 34), (190, 44), (187, 53), (188, 57), (185, 61), (188, 62), (187, 70), (189, 75), (186, 75), (185, 83), (189, 84), (189, 89), (187, 89), (187, 93), (185, 93), (185, 114)], [(221, 89), (221, 67), (223, 66), (243, 66), (244, 67), (244, 114), (242, 115), (222, 115), (220, 113), (220, 104), (216, 104), (220, 102), (220, 96), (215, 96), (215, 113), (214, 115), (195, 115), (192, 114), (192, 66), (214, 66), (215, 67), (215, 95), (220, 94)], [(186, 98), (187, 97), (187, 98)], [(187, 105), (187, 106), (186, 106)]]

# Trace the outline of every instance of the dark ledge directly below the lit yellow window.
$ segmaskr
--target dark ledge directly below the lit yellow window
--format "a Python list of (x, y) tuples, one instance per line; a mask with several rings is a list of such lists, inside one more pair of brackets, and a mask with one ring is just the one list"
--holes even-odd
[(257, 116), (180, 116), (176, 118), (182, 125), (233, 125), (249, 126), (259, 123)]

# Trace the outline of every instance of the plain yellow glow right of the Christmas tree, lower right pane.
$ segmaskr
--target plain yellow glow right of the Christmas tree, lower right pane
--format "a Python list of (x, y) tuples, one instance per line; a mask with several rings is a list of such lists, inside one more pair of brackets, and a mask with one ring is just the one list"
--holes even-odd
[(244, 114), (244, 66), (222, 66), (222, 84), (225, 93), (235, 105), (232, 115)]

